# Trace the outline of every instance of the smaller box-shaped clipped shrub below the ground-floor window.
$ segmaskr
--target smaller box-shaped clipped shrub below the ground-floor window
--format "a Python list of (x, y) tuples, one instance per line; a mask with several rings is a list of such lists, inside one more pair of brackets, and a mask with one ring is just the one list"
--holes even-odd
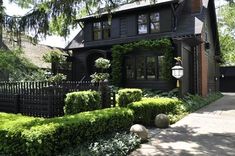
[(140, 101), (142, 98), (142, 90), (141, 89), (120, 89), (118, 91), (118, 104), (121, 107), (126, 107), (127, 104), (130, 104), (135, 101)]

